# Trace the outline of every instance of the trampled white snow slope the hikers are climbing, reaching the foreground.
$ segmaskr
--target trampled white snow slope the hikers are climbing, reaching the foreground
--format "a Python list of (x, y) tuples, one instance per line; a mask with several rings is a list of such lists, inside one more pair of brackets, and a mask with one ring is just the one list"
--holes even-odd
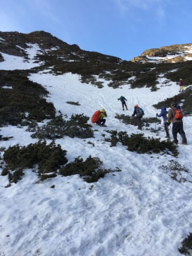
[[(115, 119), (116, 113), (131, 115), (134, 105), (139, 104), (145, 117), (155, 116), (160, 111), (151, 105), (178, 93), (175, 83), (159, 86), (156, 92), (149, 88), (132, 90), (129, 84), (113, 89), (106, 81), (104, 88), (98, 89), (81, 84), (79, 76), (70, 73), (32, 74), (29, 79), (50, 92), (48, 100), (57, 111), (69, 117), (72, 113), (91, 117), (96, 110), (105, 108), (107, 129), (128, 134), (139, 131), (136, 126)], [(163, 82), (163, 77), (159, 81)], [(121, 95), (128, 100), (128, 111), (122, 111), (117, 100)], [(67, 101), (79, 101), (81, 105), (69, 105)], [(136, 154), (121, 144), (110, 147), (110, 143), (103, 143), (103, 127), (95, 132), (95, 138), (56, 140), (67, 150), (69, 161), (79, 155), (85, 160), (91, 154), (100, 157), (106, 168), (122, 169), (97, 183), (86, 183), (78, 175), (36, 183), (37, 175), (28, 169), (17, 184), (4, 188), (8, 178), (0, 176), (0, 256), (180, 256), (177, 248), (192, 232), (192, 184), (172, 180), (161, 166), (173, 159), (192, 172), (192, 117), (185, 117), (184, 121), (189, 145), (179, 144), (176, 159), (170, 155)], [(98, 129), (93, 125), (94, 128)], [(142, 132), (146, 137), (154, 136), (150, 131)], [(1, 142), (6, 148), (37, 141), (25, 128), (8, 126), (0, 133), (14, 136)], [(160, 131), (159, 135), (164, 139), (166, 134)], [(50, 188), (52, 185), (55, 189)]]

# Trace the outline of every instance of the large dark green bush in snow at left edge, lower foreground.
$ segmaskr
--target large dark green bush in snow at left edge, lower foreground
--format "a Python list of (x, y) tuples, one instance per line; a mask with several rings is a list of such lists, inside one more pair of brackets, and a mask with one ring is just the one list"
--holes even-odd
[[(49, 145), (46, 142), (38, 141), (28, 146), (14, 145), (9, 147), (3, 155), (6, 167), (1, 175), (9, 175), (9, 182), (17, 183), (23, 176), (23, 169), (35, 168), (38, 165), (38, 174), (40, 180), (55, 177), (56, 171), (67, 163), (65, 150), (61, 149), (61, 145), (55, 145), (53, 141)], [(45, 173), (54, 172), (54, 174), (45, 175)], [(44, 175), (41, 177), (41, 175)]]

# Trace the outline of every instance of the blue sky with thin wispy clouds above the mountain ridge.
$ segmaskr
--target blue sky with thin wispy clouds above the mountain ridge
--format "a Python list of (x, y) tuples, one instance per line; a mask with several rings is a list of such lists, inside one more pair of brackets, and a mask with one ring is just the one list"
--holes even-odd
[(192, 43), (192, 0), (6, 0), (0, 31), (44, 30), (81, 49), (123, 60)]

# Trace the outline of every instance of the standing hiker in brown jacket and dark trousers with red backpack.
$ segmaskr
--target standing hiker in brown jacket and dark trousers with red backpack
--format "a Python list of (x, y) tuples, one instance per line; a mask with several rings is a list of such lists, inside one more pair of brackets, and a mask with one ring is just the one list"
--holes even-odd
[(166, 122), (171, 122), (172, 121), (172, 134), (173, 134), (173, 139), (174, 143), (177, 144), (177, 133), (180, 134), (182, 137), (182, 144), (186, 145), (187, 144), (187, 139), (185, 136), (185, 132), (183, 131), (183, 113), (182, 111), (178, 108), (177, 102), (172, 102), (171, 108), (168, 111), (168, 118)]

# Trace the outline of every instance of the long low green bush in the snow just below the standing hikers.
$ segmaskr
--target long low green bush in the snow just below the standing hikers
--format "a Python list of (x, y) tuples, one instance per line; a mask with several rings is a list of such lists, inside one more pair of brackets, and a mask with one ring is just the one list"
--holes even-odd
[(118, 142), (122, 145), (127, 146), (129, 151), (136, 151), (139, 154), (152, 154), (164, 152), (166, 154), (172, 154), (172, 156), (177, 156), (177, 145), (172, 143), (170, 140), (145, 138), (143, 134), (128, 134), (124, 131), (107, 131), (111, 134), (111, 138), (105, 138), (105, 141), (111, 142), (111, 146), (115, 146)]

